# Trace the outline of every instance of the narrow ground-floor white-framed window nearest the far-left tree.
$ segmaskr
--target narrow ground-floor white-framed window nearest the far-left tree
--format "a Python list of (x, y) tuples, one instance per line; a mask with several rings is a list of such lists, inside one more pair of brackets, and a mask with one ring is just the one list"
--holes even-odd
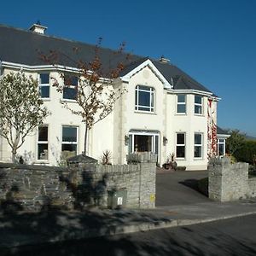
[(48, 160), (48, 125), (38, 126), (37, 160)]

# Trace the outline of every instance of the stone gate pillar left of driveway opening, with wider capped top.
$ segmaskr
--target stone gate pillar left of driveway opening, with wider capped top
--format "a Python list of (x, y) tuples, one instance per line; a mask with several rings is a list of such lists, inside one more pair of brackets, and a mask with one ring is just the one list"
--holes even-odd
[(127, 155), (128, 164), (136, 163), (140, 166), (139, 172), (139, 207), (155, 207), (155, 173), (157, 154), (143, 152)]

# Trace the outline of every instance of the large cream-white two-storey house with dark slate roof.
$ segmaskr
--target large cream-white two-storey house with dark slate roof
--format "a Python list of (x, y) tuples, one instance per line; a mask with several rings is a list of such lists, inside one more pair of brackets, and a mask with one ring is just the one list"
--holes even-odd
[[(27, 162), (58, 165), (63, 152), (81, 154), (84, 150), (84, 123), (60, 101), (78, 108), (73, 100), (78, 83), (73, 74), (78, 70), (71, 59), (90, 61), (94, 46), (50, 37), (44, 34), (45, 29), (38, 24), (29, 31), (0, 26), (1, 74), (22, 68), (38, 78), (51, 115), (26, 137), (19, 154)], [(65, 53), (55, 60), (57, 65), (39, 58), (38, 52), (55, 50)], [(111, 49), (101, 49), (103, 65), (109, 64), (112, 54)], [(51, 78), (65, 83), (61, 77), (64, 71), (72, 76), (73, 86), (61, 95)], [(226, 135), (217, 131), (218, 96), (165, 58), (156, 61), (132, 55), (115, 84), (127, 92), (116, 102), (113, 112), (90, 130), (87, 152), (91, 157), (100, 159), (103, 151), (110, 150), (112, 162), (123, 164), (126, 154), (149, 151), (158, 154), (160, 165), (174, 154), (178, 166), (205, 170), (209, 154), (224, 154)], [(0, 160), (10, 158), (10, 148), (0, 137)]]

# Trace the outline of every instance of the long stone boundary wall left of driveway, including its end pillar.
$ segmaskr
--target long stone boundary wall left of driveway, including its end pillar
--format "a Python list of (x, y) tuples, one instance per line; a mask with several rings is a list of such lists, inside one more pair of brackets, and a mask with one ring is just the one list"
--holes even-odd
[(26, 210), (45, 205), (67, 209), (108, 207), (109, 192), (125, 190), (125, 207), (153, 208), (155, 158), (132, 157), (129, 165), (116, 166), (79, 164), (59, 168), (0, 163), (0, 201), (2, 205), (6, 201), (17, 203)]

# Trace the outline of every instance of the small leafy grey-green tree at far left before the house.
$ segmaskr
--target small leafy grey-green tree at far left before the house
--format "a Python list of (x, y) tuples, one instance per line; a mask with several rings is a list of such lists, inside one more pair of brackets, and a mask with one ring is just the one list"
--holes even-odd
[(38, 81), (24, 73), (9, 73), (0, 79), (0, 135), (12, 149), (15, 162), (17, 149), (25, 137), (49, 115), (38, 92)]

